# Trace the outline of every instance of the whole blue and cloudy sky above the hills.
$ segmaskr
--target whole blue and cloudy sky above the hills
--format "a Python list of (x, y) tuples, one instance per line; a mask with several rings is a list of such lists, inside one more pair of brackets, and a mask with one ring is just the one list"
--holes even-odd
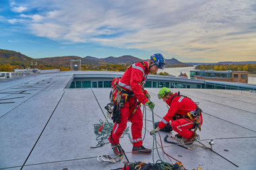
[(32, 58), (256, 60), (256, 1), (0, 0), (0, 49)]

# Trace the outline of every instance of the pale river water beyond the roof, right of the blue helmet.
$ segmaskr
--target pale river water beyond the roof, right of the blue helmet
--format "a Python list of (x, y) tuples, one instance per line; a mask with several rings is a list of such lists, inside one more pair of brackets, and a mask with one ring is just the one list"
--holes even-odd
[[(186, 73), (190, 78), (190, 71), (194, 71), (194, 70), (195, 70), (195, 67), (172, 67), (172, 68), (165, 68), (164, 70), (159, 69), (158, 73), (166, 72), (166, 73), (169, 73), (169, 75), (174, 75), (178, 77), (182, 72), (182, 73)], [(256, 85), (256, 77), (248, 77), (248, 84)]]

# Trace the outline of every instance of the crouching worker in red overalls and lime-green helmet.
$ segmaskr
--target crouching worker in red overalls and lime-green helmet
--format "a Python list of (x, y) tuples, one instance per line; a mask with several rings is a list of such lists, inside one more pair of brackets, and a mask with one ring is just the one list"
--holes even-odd
[(160, 89), (158, 98), (163, 99), (170, 105), (170, 108), (158, 127), (152, 130), (150, 134), (153, 134), (154, 131), (158, 132), (171, 121), (172, 130), (178, 133), (175, 135), (177, 138), (185, 138), (184, 142), (193, 142), (197, 136), (195, 130), (199, 128), (201, 131), (201, 124), (203, 123), (201, 109), (189, 97), (179, 93), (173, 94), (166, 87)]

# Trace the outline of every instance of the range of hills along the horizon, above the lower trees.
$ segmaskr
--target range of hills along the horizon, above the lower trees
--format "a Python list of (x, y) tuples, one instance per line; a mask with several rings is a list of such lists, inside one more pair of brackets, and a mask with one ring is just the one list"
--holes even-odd
[[(108, 56), (106, 58), (96, 58), (94, 56), (55, 56), (48, 58), (31, 58), (20, 52), (15, 52), (12, 50), (2, 50), (0, 49), (0, 65), (31, 65), (31, 62), (37, 62), (37, 65), (69, 65), (71, 59), (81, 60), (84, 65), (106, 65), (106, 64), (133, 64), (134, 62), (141, 62), (140, 58), (131, 55), (124, 55), (119, 57)], [(166, 59), (166, 67), (171, 67), (172, 65), (177, 65), (179, 67), (190, 66), (179, 60), (172, 58)]]

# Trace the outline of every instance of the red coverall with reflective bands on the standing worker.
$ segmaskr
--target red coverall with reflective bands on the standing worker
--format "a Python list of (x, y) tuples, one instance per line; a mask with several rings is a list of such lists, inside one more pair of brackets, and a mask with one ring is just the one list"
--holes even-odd
[[(143, 62), (148, 68), (148, 62)], [(110, 134), (108, 140), (112, 144), (119, 144), (119, 138), (123, 134), (123, 131), (127, 127), (127, 120), (131, 122), (131, 134), (133, 136), (133, 146), (141, 146), (141, 130), (143, 127), (143, 118), (140, 107), (137, 107), (136, 112), (132, 115), (138, 101), (145, 104), (148, 101), (146, 93), (148, 91), (141, 89), (141, 83), (146, 81), (146, 77), (150, 71), (146, 69), (141, 62), (135, 62), (131, 67), (125, 71), (122, 78), (119, 81), (119, 86), (127, 91), (132, 91), (133, 96), (125, 102), (124, 107), (121, 108), (121, 122), (119, 124), (115, 123), (112, 134)], [(117, 95), (117, 90), (115, 91), (114, 97)], [(131, 117), (130, 117), (131, 116)], [(114, 140), (114, 141), (113, 141)]]

